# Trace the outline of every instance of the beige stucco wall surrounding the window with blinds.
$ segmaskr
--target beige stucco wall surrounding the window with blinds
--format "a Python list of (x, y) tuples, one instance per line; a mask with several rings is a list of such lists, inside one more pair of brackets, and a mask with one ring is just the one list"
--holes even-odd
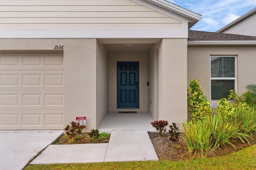
[(255, 46), (188, 46), (188, 83), (198, 79), (204, 94), (210, 99), (210, 56), (237, 56), (237, 91), (242, 95), (245, 86), (256, 83)]

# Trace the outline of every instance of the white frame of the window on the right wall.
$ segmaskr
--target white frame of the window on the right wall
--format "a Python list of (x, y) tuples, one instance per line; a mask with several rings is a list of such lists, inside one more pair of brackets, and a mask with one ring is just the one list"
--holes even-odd
[[(212, 78), (211, 58), (212, 57), (235, 57), (235, 78)], [(212, 100), (212, 80), (235, 80), (235, 91), (237, 92), (237, 55), (210, 55), (210, 101), (211, 105), (216, 105), (218, 100)]]

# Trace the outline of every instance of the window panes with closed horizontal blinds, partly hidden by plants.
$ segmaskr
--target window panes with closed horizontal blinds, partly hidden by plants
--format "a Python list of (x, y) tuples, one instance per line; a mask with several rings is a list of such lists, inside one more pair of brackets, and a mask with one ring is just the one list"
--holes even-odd
[(230, 90), (235, 90), (236, 57), (211, 57), (211, 100), (227, 98)]

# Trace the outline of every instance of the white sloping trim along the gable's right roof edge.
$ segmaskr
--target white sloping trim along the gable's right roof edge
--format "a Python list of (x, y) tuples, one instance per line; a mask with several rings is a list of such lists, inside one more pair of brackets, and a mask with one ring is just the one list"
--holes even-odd
[[(134, 1), (134, 0), (132, 0), (132, 1)], [(140, 0), (135, 0), (134, 2), (139, 2), (139, 1)], [(143, 1), (146, 1), (146, 2), (149, 2), (149, 3), (154, 4), (156, 6), (162, 7), (167, 11), (171, 11), (173, 13), (179, 14), (179, 15), (185, 17), (185, 18), (188, 18), (188, 19), (196, 21), (196, 22), (199, 21), (201, 19), (201, 16), (202, 16), (198, 13), (187, 10), (186, 8), (183, 8), (179, 5), (173, 4), (169, 1), (165, 1), (165, 0), (143, 0)]]

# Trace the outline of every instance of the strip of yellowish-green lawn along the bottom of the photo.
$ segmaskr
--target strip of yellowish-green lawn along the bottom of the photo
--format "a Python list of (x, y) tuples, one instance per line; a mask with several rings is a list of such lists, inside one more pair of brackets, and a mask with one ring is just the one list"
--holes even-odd
[(34, 169), (256, 169), (256, 145), (245, 148), (233, 154), (207, 159), (194, 159), (182, 162), (162, 160), (159, 162), (113, 162), (90, 164), (53, 164), (53, 165), (29, 165), (25, 170)]

